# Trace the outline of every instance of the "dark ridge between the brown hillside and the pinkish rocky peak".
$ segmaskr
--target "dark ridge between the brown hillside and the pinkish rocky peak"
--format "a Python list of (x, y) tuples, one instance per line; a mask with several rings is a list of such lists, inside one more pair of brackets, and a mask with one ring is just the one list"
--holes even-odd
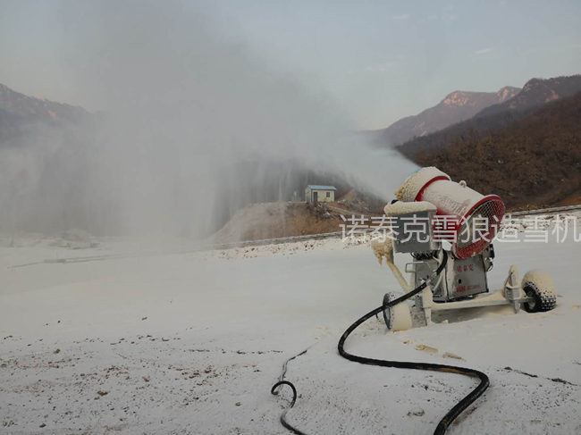
[(455, 140), (485, 135), (534, 113), (546, 103), (573, 96), (579, 91), (581, 91), (581, 75), (554, 79), (530, 79), (516, 96), (500, 104), (484, 108), (467, 121), (423, 137), (410, 139), (398, 146), (398, 149), (403, 155), (411, 157), (420, 151), (444, 148)]

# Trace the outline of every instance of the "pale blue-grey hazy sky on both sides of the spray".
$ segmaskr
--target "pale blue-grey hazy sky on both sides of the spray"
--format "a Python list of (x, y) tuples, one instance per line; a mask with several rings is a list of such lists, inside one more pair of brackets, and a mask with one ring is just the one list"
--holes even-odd
[[(100, 3), (114, 13), (116, 2)], [(493, 91), (581, 72), (578, 1), (184, 3), (269, 68), (327, 94), (362, 129), (386, 127), (456, 89)], [(0, 83), (106, 109), (72, 80), (82, 61), (68, 47), (92, 17), (68, 13), (70, 5), (0, 0)]]

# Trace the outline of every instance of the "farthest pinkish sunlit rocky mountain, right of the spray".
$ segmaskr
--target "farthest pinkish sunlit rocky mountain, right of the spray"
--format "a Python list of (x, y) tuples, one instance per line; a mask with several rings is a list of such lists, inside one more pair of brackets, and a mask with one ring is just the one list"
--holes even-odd
[(414, 116), (408, 116), (394, 122), (385, 130), (379, 130), (376, 140), (390, 146), (400, 145), (410, 138), (422, 137), (433, 131), (442, 130), (459, 121), (472, 118), (485, 107), (502, 103), (515, 96), (519, 88), (510, 86), (498, 92), (465, 92), (454, 91), (447, 95), (438, 105), (426, 109)]

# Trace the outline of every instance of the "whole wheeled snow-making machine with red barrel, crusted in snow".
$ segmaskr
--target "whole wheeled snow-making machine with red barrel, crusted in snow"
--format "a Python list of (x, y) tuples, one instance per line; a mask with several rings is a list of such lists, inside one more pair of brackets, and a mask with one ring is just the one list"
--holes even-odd
[[(391, 222), (390, 237), (374, 241), (375, 255), (380, 263), (385, 258), (405, 293), (427, 285), (396, 305), (389, 304), (396, 297), (385, 294), (383, 318), (389, 329), (429, 324), (432, 314), (440, 311), (511, 305), (515, 313), (521, 306), (535, 313), (555, 307), (552, 279), (545, 272), (527, 272), (519, 282), (512, 265), (502, 288), (489, 291), (486, 273), (493, 268), (492, 240), (505, 212), (500, 197), (481, 195), (435, 167), (412, 174), (395, 196), (384, 208)], [(405, 266), (409, 280), (395, 265), (394, 253), (412, 256)], [(442, 272), (435, 273), (444, 262)]]

